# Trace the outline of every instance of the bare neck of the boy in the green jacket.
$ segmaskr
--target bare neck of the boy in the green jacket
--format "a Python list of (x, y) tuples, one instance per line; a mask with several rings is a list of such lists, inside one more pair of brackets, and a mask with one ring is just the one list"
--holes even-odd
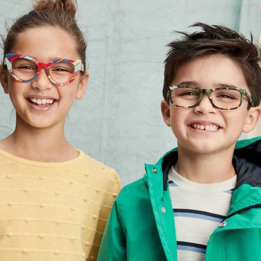
[(186, 179), (202, 184), (226, 181), (236, 175), (232, 165), (233, 151), (216, 154), (188, 155), (178, 151), (176, 172)]

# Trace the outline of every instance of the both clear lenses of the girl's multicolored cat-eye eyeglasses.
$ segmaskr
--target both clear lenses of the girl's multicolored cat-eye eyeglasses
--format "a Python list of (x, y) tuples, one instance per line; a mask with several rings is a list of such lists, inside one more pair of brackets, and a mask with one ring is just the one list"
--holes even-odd
[[(38, 70), (35, 62), (25, 59), (16, 58), (12, 62), (14, 74), (21, 80), (32, 79)], [(50, 77), (57, 83), (69, 81), (74, 74), (74, 65), (69, 62), (56, 62), (49, 66)]]

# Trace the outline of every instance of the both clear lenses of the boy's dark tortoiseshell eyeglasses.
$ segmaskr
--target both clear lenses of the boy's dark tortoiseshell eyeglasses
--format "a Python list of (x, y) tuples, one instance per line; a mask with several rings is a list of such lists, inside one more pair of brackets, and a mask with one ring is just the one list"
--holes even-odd
[[(205, 94), (207, 95), (207, 94)], [(212, 102), (219, 108), (235, 108), (240, 104), (241, 93), (237, 90), (218, 89), (211, 94)], [(200, 91), (193, 88), (176, 88), (172, 91), (173, 103), (182, 107), (195, 105), (200, 98)]]

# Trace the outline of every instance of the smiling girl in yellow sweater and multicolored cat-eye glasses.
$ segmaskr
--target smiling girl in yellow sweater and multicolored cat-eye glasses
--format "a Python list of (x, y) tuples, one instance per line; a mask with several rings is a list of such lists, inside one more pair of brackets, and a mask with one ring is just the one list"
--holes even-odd
[(95, 260), (120, 189), (115, 170), (64, 137), (89, 76), (75, 4), (36, 2), (3, 43), (0, 80), (16, 127), (0, 141), (0, 260)]

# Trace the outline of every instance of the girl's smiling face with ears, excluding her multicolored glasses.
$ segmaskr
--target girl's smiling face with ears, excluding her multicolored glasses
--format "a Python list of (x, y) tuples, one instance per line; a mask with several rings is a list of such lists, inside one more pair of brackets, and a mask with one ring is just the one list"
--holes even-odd
[[(49, 63), (57, 58), (78, 59), (74, 39), (56, 27), (43, 26), (20, 33), (10, 53), (33, 57), (40, 63)], [(87, 88), (88, 73), (67, 85), (53, 84), (45, 68), (37, 78), (28, 83), (15, 80), (7, 70), (0, 70), (4, 92), (10, 95), (17, 115), (17, 124), (46, 128), (59, 124), (63, 127), (65, 116), (74, 99), (81, 99)]]

